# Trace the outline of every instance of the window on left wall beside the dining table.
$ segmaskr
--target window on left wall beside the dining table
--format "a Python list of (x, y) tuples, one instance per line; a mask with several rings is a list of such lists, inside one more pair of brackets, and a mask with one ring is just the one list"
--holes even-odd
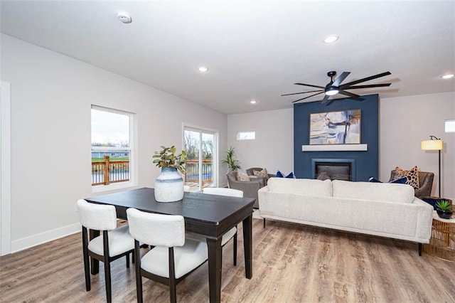
[(132, 184), (133, 117), (129, 112), (92, 106), (92, 187)]

